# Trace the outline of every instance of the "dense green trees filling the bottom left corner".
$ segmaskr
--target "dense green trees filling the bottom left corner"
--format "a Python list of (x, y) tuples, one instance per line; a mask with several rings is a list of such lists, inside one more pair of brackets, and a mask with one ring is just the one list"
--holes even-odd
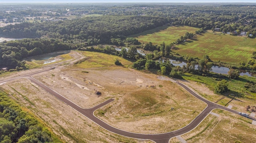
[(7, 93), (0, 91), (1, 143), (56, 143), (59, 141), (35, 117), (14, 103)]

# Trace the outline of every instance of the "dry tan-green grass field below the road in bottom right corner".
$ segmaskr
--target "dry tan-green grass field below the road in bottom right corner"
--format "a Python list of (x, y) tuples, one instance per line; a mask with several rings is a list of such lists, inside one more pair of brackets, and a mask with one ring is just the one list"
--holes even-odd
[[(214, 109), (194, 130), (181, 135), (188, 143), (255, 143), (256, 125), (251, 119), (234, 115), (228, 111)], [(174, 137), (170, 143), (179, 143)]]

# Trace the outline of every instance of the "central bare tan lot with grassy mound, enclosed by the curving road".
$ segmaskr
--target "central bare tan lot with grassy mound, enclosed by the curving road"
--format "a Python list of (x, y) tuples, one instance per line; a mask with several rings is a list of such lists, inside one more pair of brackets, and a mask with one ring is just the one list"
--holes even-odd
[[(128, 68), (65, 68), (34, 77), (80, 107), (90, 108), (108, 98), (116, 99), (96, 115), (114, 127), (137, 133), (179, 129), (206, 107), (175, 83)], [(102, 95), (96, 95), (96, 91)]]

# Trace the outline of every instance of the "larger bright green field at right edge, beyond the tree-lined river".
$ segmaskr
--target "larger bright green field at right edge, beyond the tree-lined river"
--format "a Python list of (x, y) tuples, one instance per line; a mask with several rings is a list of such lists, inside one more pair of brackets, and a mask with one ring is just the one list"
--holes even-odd
[(213, 61), (239, 63), (246, 62), (252, 56), (252, 52), (256, 51), (256, 40), (246, 36), (224, 35), (208, 30), (175, 47), (176, 50), (172, 51), (180, 55), (188, 54), (194, 58), (202, 58), (207, 54)]

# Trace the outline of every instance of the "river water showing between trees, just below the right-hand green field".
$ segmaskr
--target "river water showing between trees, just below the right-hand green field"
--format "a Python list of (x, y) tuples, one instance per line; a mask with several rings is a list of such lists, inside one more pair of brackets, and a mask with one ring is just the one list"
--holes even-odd
[[(164, 60), (163, 60), (164, 61)], [(171, 62), (171, 64), (173, 66), (180, 66), (182, 67), (183, 65), (187, 65), (185, 62), (179, 62), (179, 61), (176, 61), (176, 60), (169, 60)], [(196, 70), (198, 69), (198, 65), (195, 66)], [(229, 71), (229, 68), (226, 68), (226, 67), (219, 67), (219, 66), (212, 66), (212, 72), (214, 73), (221, 73), (221, 74), (228, 74), (228, 71)], [(240, 75), (248, 75), (248, 76), (253, 76), (252, 73), (250, 72), (246, 72), (246, 71), (242, 71), (240, 73)]]

